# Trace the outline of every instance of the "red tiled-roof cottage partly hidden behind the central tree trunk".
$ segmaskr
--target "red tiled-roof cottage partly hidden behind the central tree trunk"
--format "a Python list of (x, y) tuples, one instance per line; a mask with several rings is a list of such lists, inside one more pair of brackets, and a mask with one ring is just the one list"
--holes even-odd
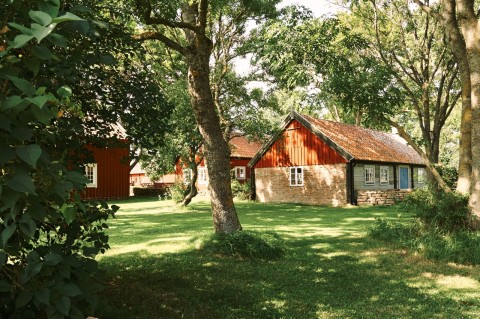
[[(240, 183), (247, 183), (250, 181), (251, 171), (248, 167), (250, 160), (257, 154), (262, 145), (255, 141), (248, 141), (245, 136), (235, 135), (230, 139), (230, 169), (232, 171), (232, 178)], [(203, 160), (198, 166), (198, 180), (197, 189), (199, 192), (205, 192), (208, 189), (208, 173), (207, 165)], [(187, 183), (191, 178), (191, 170), (176, 163), (176, 174)]]

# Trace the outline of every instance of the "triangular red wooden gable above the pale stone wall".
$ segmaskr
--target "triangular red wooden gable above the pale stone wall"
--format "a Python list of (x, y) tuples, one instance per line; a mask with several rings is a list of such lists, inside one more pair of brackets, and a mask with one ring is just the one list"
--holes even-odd
[(255, 164), (255, 168), (337, 163), (347, 163), (347, 160), (297, 120), (293, 120)]

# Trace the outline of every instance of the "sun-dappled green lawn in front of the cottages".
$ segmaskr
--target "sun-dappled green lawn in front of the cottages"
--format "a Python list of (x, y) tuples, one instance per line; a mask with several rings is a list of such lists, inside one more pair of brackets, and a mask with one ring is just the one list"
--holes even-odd
[(100, 258), (108, 318), (480, 318), (480, 267), (426, 260), (366, 237), (395, 208), (238, 202), (249, 230), (284, 238), (277, 261), (195, 249), (212, 232), (209, 203), (130, 200), (110, 222)]

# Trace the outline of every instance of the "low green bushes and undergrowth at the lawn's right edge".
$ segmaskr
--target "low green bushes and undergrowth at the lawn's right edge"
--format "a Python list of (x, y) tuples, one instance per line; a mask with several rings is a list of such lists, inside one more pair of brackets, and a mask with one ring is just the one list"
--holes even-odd
[(377, 219), (368, 234), (427, 258), (480, 264), (480, 236), (469, 229), (467, 202), (456, 193), (416, 190), (400, 204), (415, 217), (412, 223)]

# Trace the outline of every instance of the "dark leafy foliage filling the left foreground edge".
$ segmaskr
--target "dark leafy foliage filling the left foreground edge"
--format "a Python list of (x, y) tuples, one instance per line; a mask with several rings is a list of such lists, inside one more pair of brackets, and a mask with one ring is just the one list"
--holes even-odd
[(105, 221), (118, 207), (80, 200), (88, 180), (66, 160), (75, 149), (55, 147), (72, 90), (42, 80), (67, 49), (60, 32), (83, 20), (55, 0), (7, 9), (17, 22), (0, 35), (0, 317), (85, 318), (101, 302), (95, 256), (109, 248)]

